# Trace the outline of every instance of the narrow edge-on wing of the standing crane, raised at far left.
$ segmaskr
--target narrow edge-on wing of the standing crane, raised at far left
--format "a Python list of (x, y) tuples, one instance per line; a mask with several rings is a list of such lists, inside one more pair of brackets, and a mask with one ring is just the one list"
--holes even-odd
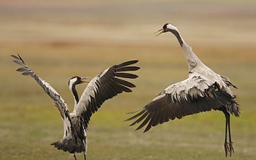
[(17, 56), (11, 56), (14, 57), (15, 63), (22, 65), (21, 68), (17, 69), (17, 71), (22, 72), (22, 75), (30, 75), (32, 78), (34, 78), (36, 82), (43, 88), (45, 93), (49, 95), (51, 99), (53, 99), (55, 106), (58, 108), (59, 112), (61, 113), (61, 117), (64, 120), (64, 127), (66, 127), (66, 129), (68, 130), (68, 127), (71, 127), (71, 122), (69, 117), (69, 109), (64, 99), (61, 98), (59, 93), (56, 90), (54, 90), (54, 88), (51, 85), (49, 85), (49, 83), (38, 77), (35, 74), (35, 72), (33, 72), (33, 70), (25, 64), (25, 62), (23, 61), (22, 57), (20, 57), (19, 54)]

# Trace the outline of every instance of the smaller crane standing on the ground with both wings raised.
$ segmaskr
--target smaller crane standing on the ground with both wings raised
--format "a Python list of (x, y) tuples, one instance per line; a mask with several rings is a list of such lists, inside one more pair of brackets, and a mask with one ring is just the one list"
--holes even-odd
[(22, 57), (11, 55), (15, 60), (14, 62), (22, 65), (17, 69), (18, 72), (23, 72), (22, 75), (30, 75), (35, 81), (45, 90), (45, 93), (51, 97), (55, 106), (58, 108), (64, 126), (63, 138), (59, 141), (51, 143), (55, 148), (62, 149), (63, 151), (69, 151), (74, 155), (75, 153), (83, 152), (84, 159), (86, 159), (87, 153), (87, 127), (92, 114), (101, 107), (109, 98), (113, 98), (122, 92), (132, 92), (130, 88), (134, 88), (135, 85), (130, 83), (124, 78), (137, 78), (135, 74), (127, 73), (126, 71), (139, 70), (140, 67), (130, 66), (137, 63), (137, 60), (123, 62), (118, 65), (113, 65), (108, 69), (105, 69), (101, 74), (96, 75), (88, 82), (87, 87), (82, 93), (79, 99), (76, 85), (87, 82), (85, 79), (78, 76), (72, 77), (69, 80), (69, 89), (74, 96), (74, 111), (69, 113), (64, 99), (61, 98), (59, 93), (49, 85), (45, 80), (38, 77), (32, 69), (25, 64)]

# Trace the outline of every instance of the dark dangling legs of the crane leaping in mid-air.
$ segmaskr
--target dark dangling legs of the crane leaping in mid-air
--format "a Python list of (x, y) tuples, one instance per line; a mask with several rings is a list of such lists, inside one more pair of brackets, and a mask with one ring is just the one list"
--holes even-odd
[[(226, 109), (222, 109), (225, 118), (226, 118), (226, 129), (225, 129), (225, 141), (224, 141), (224, 149), (226, 156), (228, 156), (228, 153), (230, 153), (230, 156), (232, 153), (234, 153), (234, 148), (233, 148), (233, 142), (231, 141), (231, 133), (230, 133), (230, 114)], [(227, 141), (227, 131), (229, 134), (229, 143)]]

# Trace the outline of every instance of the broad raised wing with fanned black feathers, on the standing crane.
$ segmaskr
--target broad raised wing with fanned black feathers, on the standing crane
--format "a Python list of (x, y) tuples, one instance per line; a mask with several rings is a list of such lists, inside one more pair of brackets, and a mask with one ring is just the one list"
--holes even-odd
[(83, 91), (79, 103), (75, 106), (73, 113), (79, 116), (85, 128), (88, 127), (90, 117), (96, 112), (101, 104), (109, 98), (113, 98), (119, 93), (131, 92), (130, 88), (134, 88), (133, 83), (124, 80), (124, 78), (137, 78), (135, 74), (127, 73), (127, 71), (139, 70), (139, 67), (128, 66), (138, 61), (127, 61), (122, 64), (113, 65), (104, 70), (101, 74), (96, 75), (87, 88)]

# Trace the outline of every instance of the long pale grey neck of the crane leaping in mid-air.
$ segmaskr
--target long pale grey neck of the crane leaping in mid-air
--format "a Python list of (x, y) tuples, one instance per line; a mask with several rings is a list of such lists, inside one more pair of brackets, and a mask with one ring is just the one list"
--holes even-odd
[(189, 65), (189, 71), (192, 72), (192, 70), (197, 65), (204, 65), (203, 62), (198, 59), (197, 55), (192, 51), (192, 48), (183, 40), (181, 34), (177, 30), (171, 30), (171, 32), (176, 36), (177, 40), (179, 41), (179, 44), (182, 48), (182, 51), (184, 53), (184, 56), (187, 59), (187, 64)]

